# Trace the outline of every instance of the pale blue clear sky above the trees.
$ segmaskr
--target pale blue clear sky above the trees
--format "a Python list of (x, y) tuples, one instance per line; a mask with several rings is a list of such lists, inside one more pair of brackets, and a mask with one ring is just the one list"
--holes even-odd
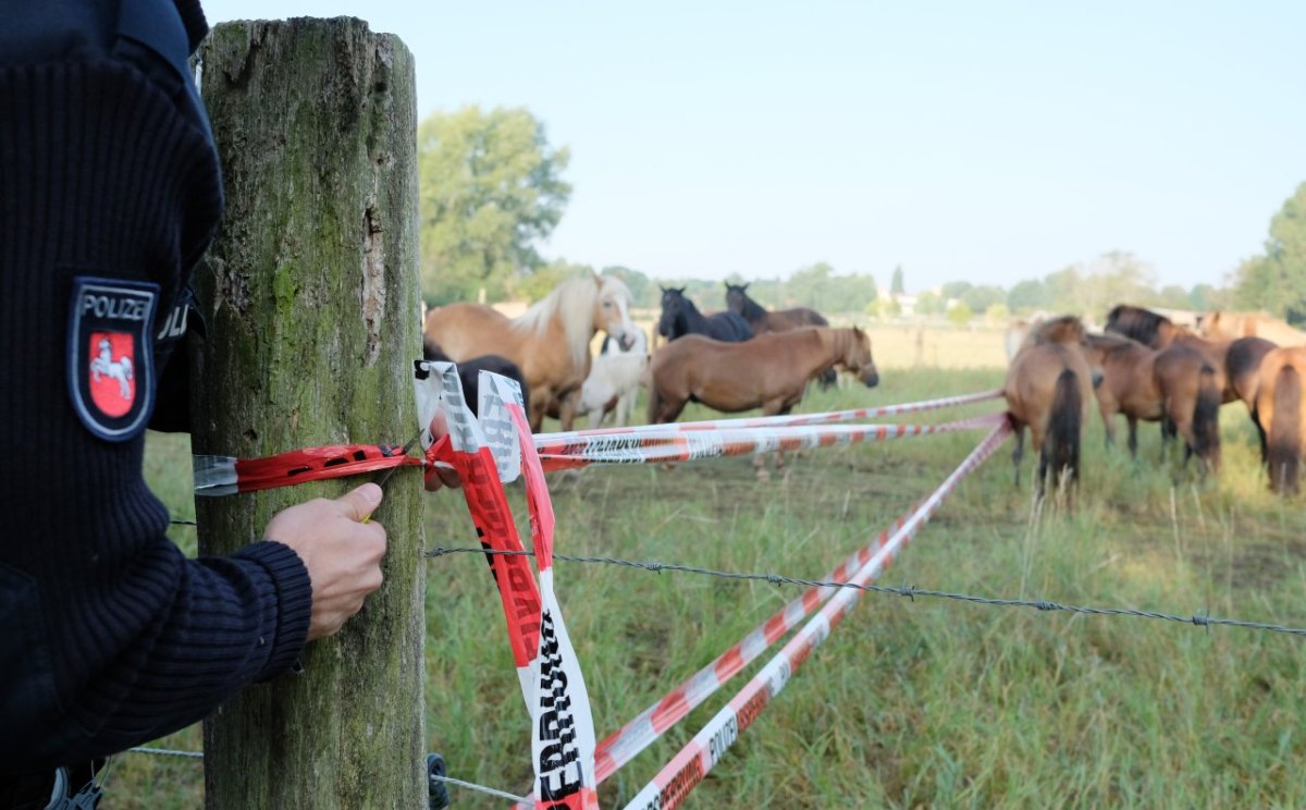
[(828, 261), (910, 291), (1128, 251), (1220, 285), (1306, 180), (1306, 1), (209, 0), (360, 17), (418, 114), (526, 107), (567, 145), (547, 257), (656, 278)]

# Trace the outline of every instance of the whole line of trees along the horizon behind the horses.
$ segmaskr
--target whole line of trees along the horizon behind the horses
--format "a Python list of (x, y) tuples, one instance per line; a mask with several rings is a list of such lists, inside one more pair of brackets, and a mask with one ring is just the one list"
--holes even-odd
[[(571, 274), (620, 273), (636, 306), (657, 307), (658, 285), (684, 286), (705, 308), (725, 306), (720, 281), (660, 278), (627, 267), (589, 268), (546, 260), (537, 246), (562, 221), (571, 197), (563, 179), (571, 153), (549, 144), (543, 123), (525, 108), (475, 106), (436, 112), (418, 128), (422, 216), (422, 290), (431, 304), (454, 300), (535, 300)], [(891, 295), (880, 297), (866, 272), (840, 273), (825, 261), (795, 269), (785, 280), (744, 278), (763, 306), (804, 306), (831, 314), (892, 316), (902, 311), (908, 273), (895, 268)], [(1010, 289), (952, 281), (918, 293), (917, 315), (964, 321), (1002, 319), (1032, 311), (1101, 315), (1113, 303), (1209, 311), (1266, 310), (1292, 323), (1306, 320), (1306, 183), (1269, 223), (1264, 252), (1243, 260), (1225, 286), (1158, 286), (1152, 268), (1132, 253), (1113, 251)]]

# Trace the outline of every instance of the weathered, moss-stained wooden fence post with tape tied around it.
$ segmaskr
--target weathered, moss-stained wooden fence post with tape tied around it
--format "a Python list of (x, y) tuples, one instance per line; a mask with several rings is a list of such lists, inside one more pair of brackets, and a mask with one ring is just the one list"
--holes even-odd
[[(227, 210), (196, 284), (197, 453), (266, 456), (417, 431), (417, 112), (413, 57), (360, 20), (234, 22), (199, 54)], [(273, 513), (350, 478), (200, 499), (200, 546), (235, 550)], [(376, 519), (385, 585), (304, 649), (304, 673), (205, 721), (209, 807), (426, 803), (421, 474)]]

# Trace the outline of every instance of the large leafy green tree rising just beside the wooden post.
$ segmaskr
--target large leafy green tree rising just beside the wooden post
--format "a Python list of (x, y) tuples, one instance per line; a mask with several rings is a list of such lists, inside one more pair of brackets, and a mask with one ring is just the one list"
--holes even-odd
[(571, 155), (528, 110), (464, 107), (418, 127), (422, 289), (434, 303), (474, 300), (542, 260), (535, 243), (562, 218)]

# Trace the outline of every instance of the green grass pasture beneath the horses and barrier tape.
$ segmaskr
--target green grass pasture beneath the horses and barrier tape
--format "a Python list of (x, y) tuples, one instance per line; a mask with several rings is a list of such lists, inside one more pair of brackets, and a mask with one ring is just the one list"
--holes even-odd
[[(812, 391), (802, 409), (1000, 384), (1000, 332), (978, 333), (987, 344), (977, 333), (926, 334), (921, 363), (914, 334), (897, 332), (899, 340), (872, 332), (879, 388)], [(952, 368), (929, 367), (931, 344)], [(708, 415), (691, 408), (682, 418)], [(1139, 464), (1107, 452), (1094, 415), (1077, 508), (1041, 516), (1032, 516), (1028, 486), (1033, 453), (1027, 486), (1016, 490), (1008, 443), (883, 581), (1306, 626), (1301, 503), (1266, 490), (1242, 405), (1225, 406), (1221, 431), (1225, 466), (1202, 482), (1157, 465), (1153, 426), (1143, 430)], [(558, 551), (820, 577), (935, 487), (978, 439), (807, 452), (767, 483), (754, 479), (750, 459), (554, 477)], [(151, 481), (180, 516), (192, 513), (187, 452), (174, 439), (151, 440)], [(511, 495), (524, 512), (520, 491)], [(432, 495), (428, 516), (428, 545), (475, 545), (456, 494)], [(193, 546), (188, 529), (178, 538)], [(460, 554), (426, 564), (430, 750), (444, 754), (451, 776), (524, 793), (528, 719), (485, 560)], [(799, 593), (562, 562), (556, 581), (599, 737)], [(1306, 806), (1302, 644), (1234, 627), (866, 594), (687, 806)], [(619, 771), (601, 788), (602, 805), (629, 800), (755, 670)], [(188, 729), (162, 745), (193, 750), (200, 736)], [(451, 790), (456, 807), (504, 806)], [(133, 754), (119, 758), (102, 806), (192, 807), (201, 796), (199, 764)]]

